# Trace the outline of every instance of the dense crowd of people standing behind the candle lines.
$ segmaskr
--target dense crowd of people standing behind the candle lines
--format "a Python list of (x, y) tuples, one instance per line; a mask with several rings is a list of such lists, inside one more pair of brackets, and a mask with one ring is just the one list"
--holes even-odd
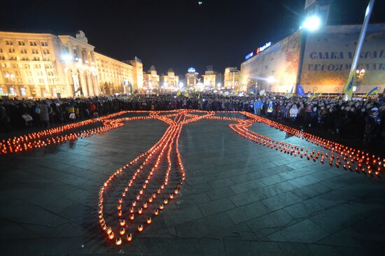
[(78, 99), (1, 99), (0, 133), (31, 127), (63, 125), (123, 110), (179, 108), (204, 111), (249, 111), (309, 131), (328, 131), (342, 139), (363, 140), (385, 146), (383, 97), (343, 101), (338, 97), (255, 97), (225, 94), (133, 94)]

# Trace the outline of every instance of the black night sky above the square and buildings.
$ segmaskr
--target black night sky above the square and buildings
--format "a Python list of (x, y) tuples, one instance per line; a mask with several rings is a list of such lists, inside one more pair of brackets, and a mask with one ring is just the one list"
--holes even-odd
[[(330, 23), (363, 21), (369, 0), (334, 0)], [(155, 65), (158, 73), (207, 65), (223, 73), (260, 45), (279, 41), (303, 20), (304, 0), (94, 0), (3, 1), (0, 29), (70, 34), (82, 29), (88, 42), (116, 59)], [(385, 22), (377, 0), (371, 22)]]

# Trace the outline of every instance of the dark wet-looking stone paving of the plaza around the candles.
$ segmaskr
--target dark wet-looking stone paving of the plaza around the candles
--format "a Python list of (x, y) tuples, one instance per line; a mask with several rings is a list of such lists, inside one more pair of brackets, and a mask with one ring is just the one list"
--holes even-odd
[[(383, 179), (271, 150), (230, 123), (183, 127), (186, 184), (160, 218), (120, 247), (99, 227), (97, 193), (159, 140), (165, 123), (127, 122), (1, 156), (0, 255), (384, 255)], [(307, 146), (262, 123), (251, 129)]]

